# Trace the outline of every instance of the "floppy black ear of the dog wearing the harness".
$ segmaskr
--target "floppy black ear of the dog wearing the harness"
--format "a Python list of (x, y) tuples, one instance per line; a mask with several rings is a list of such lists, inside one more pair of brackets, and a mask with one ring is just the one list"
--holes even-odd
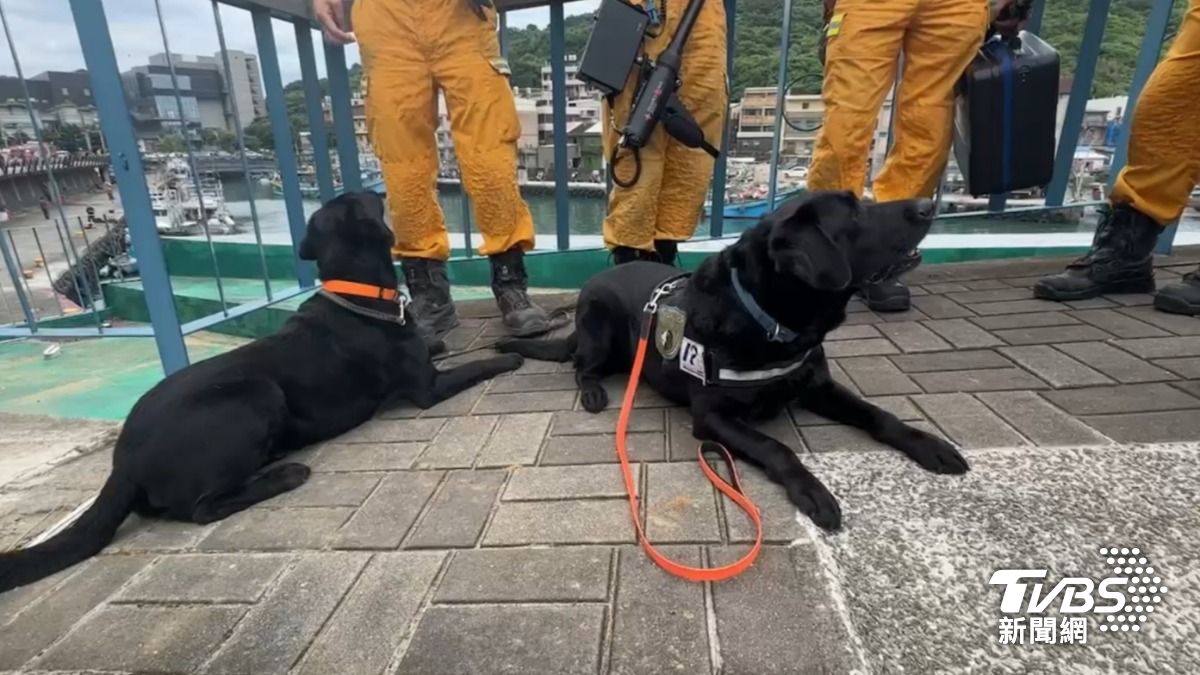
[(845, 291), (853, 274), (836, 243), (821, 227), (817, 208), (805, 202), (775, 223), (768, 240), (775, 271), (787, 274), (818, 291)]

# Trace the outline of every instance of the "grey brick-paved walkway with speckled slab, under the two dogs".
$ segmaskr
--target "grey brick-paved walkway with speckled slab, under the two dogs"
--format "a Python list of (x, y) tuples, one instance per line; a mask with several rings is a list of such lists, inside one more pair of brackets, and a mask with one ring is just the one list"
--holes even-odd
[[(0, 671), (1198, 673), (1200, 321), (1147, 295), (1031, 299), (1060, 265), (931, 267), (911, 312), (854, 306), (827, 344), (835, 376), (961, 444), (972, 472), (925, 473), (790, 411), (764, 429), (840, 498), (845, 530), (797, 519), (745, 468), (768, 543), (731, 581), (647, 561), (616, 412), (582, 412), (566, 369), (530, 362), (305, 450), (306, 485), (222, 522), (131, 519), (103, 555), (0, 596)], [(467, 319), (451, 342), (497, 333)], [(752, 531), (696, 467), (688, 416), (648, 390), (637, 404), (650, 537), (692, 563), (739, 556)], [(0, 488), (0, 548), (88, 498), (108, 462), (100, 449)], [(1140, 548), (1169, 587), (1144, 631), (1092, 616), (1086, 644), (1028, 644), (1032, 628), (1000, 643), (992, 572), (1099, 580), (1109, 546)]]

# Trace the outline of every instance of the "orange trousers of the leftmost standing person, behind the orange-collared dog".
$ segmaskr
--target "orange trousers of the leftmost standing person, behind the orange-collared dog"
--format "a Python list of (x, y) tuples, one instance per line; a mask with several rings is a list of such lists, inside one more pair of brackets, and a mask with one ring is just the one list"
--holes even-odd
[(517, 186), (517, 118), (496, 10), (481, 20), (466, 0), (356, 0), (354, 32), (368, 79), (367, 132), (388, 187), (392, 253), (450, 257), (437, 201), (440, 89), (484, 256), (533, 249), (529, 208)]

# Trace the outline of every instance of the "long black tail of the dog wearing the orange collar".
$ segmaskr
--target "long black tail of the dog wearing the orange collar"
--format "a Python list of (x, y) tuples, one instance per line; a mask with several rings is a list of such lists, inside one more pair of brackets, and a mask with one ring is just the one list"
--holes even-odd
[(66, 530), (28, 549), (0, 554), (0, 593), (32, 584), (101, 551), (133, 510), (138, 486), (114, 472), (100, 495)]

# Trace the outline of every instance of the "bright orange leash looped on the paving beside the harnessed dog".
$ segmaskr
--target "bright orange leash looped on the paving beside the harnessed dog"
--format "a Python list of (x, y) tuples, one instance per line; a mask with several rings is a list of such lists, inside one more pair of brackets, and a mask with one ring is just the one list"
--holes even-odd
[[(629, 416), (634, 411), (634, 399), (637, 396), (637, 383), (642, 376), (642, 364), (646, 360), (646, 345), (649, 341), (656, 301), (658, 295), (646, 306), (646, 316), (642, 319), (642, 333), (637, 341), (637, 354), (634, 357), (634, 370), (629, 374), (629, 386), (625, 388), (625, 399), (620, 405), (620, 417), (617, 418), (617, 456), (620, 459), (620, 471), (625, 478), (625, 492), (629, 495), (629, 512), (634, 516), (634, 527), (637, 530), (638, 543), (642, 544), (646, 555), (659, 567), (688, 581), (724, 581), (745, 572), (754, 565), (755, 558), (758, 557), (758, 551), (762, 549), (762, 515), (758, 513), (758, 507), (742, 491), (742, 482), (738, 478), (737, 467), (733, 466), (733, 456), (725, 446), (720, 443), (701, 443), (696, 449), (696, 454), (700, 459), (700, 467), (703, 470), (704, 476), (708, 477), (708, 480), (754, 521), (754, 546), (742, 560), (722, 567), (690, 567), (678, 563), (654, 548), (654, 544), (650, 543), (646, 536), (646, 531), (642, 528), (642, 520), (638, 515), (641, 509), (637, 501), (637, 484), (634, 482), (634, 470), (629, 465), (629, 449), (625, 443), (625, 436), (629, 431)], [(732, 484), (727, 483), (709, 466), (708, 460), (704, 459), (706, 444), (715, 446), (720, 449), (725, 464), (730, 467)]]

